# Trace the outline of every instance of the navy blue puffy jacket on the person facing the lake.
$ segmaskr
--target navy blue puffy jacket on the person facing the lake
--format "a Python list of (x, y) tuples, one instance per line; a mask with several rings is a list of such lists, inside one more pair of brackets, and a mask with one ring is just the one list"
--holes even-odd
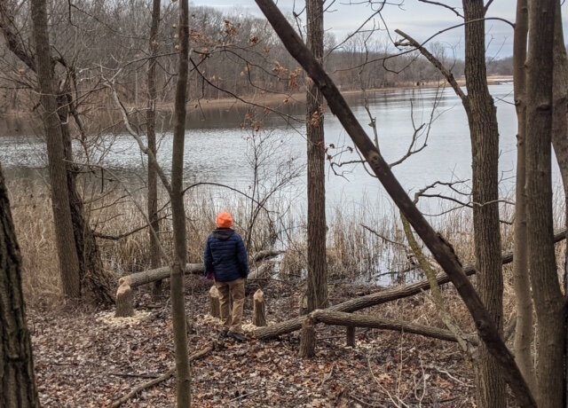
[(230, 228), (217, 228), (205, 246), (205, 276), (218, 282), (231, 282), (248, 276), (248, 255), (241, 236)]

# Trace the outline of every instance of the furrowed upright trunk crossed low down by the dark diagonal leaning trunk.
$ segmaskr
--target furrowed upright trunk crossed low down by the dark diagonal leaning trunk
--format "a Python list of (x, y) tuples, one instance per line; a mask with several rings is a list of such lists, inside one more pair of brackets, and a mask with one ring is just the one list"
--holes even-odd
[[(463, 0), (465, 20), (485, 17), (483, 0)], [(473, 230), (477, 264), (477, 293), (503, 333), (503, 277), (499, 224), (499, 129), (493, 98), (487, 87), (485, 21), (465, 26), (465, 76), (468, 89), (469, 134), (472, 155)], [(479, 347), (477, 406), (504, 407), (505, 381), (484, 343)]]

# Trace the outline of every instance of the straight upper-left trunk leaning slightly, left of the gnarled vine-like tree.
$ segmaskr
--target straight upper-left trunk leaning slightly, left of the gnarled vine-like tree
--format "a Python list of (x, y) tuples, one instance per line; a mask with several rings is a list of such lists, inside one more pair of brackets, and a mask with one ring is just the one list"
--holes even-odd
[(81, 296), (79, 259), (75, 248), (73, 223), (67, 189), (67, 166), (63, 151), (63, 139), (57, 114), (55, 83), (51, 65), (50, 43), (47, 32), (45, 0), (31, 2), (34, 41), (36, 43), (36, 73), (41, 93), (43, 126), (47, 141), (49, 173), (51, 181), (51, 206), (55, 223), (55, 239), (59, 256), (59, 270), (63, 293), (69, 300)]

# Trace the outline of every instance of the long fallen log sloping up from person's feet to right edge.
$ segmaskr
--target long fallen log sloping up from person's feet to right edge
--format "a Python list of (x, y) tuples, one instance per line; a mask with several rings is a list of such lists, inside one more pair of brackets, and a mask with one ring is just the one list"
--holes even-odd
[[(554, 241), (559, 242), (563, 240), (565, 238), (565, 235), (566, 229), (564, 228), (563, 230), (558, 231), (555, 234)], [(513, 252), (503, 252), (503, 254), (501, 255), (501, 263), (507, 264), (511, 263), (512, 261)], [(474, 275), (476, 273), (475, 265), (465, 266), (463, 268), (463, 271), (467, 276)], [(438, 282), (438, 285), (445, 285), (446, 283), (450, 282), (450, 279), (445, 272), (440, 272), (436, 276), (436, 281)], [(410, 285), (392, 287), (375, 294), (367, 294), (366, 296), (351, 299), (343, 303), (337, 303), (327, 310), (353, 312), (356, 310), (377, 306), (379, 304), (396, 301), (398, 299), (403, 299), (405, 297), (414, 296), (414, 294), (420, 294), (423, 290), (428, 289), (430, 289), (430, 283), (428, 279), (422, 279)], [(280, 336), (281, 334), (296, 332), (296, 330), (302, 328), (304, 319), (305, 317), (291, 318), (284, 322), (276, 323), (275, 325), (259, 327), (255, 330), (255, 336), (257, 339), (270, 339)]]

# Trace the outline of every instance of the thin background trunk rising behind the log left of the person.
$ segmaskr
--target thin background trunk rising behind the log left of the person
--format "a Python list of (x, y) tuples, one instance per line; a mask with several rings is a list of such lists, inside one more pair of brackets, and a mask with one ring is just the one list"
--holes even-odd
[[(161, 0), (154, 0), (152, 6), (152, 25), (150, 27), (150, 59), (148, 60), (148, 110), (146, 111), (148, 150), (156, 156), (156, 59), (158, 53), (158, 27), (160, 25)], [(152, 230), (160, 231), (158, 221), (158, 172), (154, 161), (148, 161), (148, 220), (150, 221), (150, 266), (160, 267), (160, 248)], [(162, 294), (162, 280), (156, 280), (154, 296)]]

